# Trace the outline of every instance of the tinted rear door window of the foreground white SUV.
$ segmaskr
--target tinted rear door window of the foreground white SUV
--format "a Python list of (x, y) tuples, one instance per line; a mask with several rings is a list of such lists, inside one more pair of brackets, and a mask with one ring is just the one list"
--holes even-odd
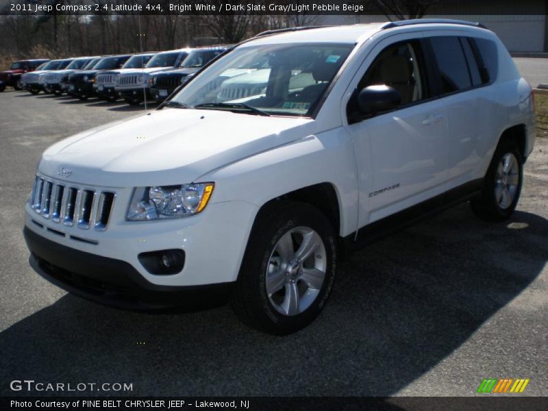
[(429, 38), (441, 77), (441, 94), (471, 88), (472, 82), (460, 40), (456, 36)]

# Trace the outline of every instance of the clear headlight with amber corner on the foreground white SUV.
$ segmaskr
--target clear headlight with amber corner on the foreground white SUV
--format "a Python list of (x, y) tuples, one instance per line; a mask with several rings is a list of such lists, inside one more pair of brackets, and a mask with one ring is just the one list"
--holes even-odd
[(193, 216), (206, 208), (214, 186), (213, 183), (200, 183), (136, 188), (126, 219), (143, 221)]

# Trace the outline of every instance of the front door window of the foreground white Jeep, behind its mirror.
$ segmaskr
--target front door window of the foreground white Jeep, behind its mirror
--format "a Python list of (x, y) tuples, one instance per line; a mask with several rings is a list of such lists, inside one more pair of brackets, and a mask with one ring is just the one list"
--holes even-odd
[(401, 95), (401, 105), (426, 98), (418, 41), (399, 42), (381, 51), (358, 84), (358, 90), (385, 84)]

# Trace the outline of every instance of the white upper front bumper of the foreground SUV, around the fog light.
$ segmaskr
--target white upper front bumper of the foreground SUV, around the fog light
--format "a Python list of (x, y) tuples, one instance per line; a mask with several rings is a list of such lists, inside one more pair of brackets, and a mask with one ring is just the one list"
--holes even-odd
[[(155, 286), (201, 286), (234, 282), (257, 207), (245, 201), (208, 204), (197, 216), (163, 221), (125, 221), (133, 190), (116, 192), (104, 231), (64, 225), (37, 213), (27, 203), (25, 227), (64, 249), (125, 262), (139, 278)], [(227, 218), (229, 216), (229, 218)], [(151, 251), (182, 249), (182, 271), (157, 275), (147, 271), (138, 256)], [(31, 250), (32, 251), (32, 250)], [(47, 260), (47, 256), (42, 256)], [(71, 267), (63, 267), (71, 270)]]

